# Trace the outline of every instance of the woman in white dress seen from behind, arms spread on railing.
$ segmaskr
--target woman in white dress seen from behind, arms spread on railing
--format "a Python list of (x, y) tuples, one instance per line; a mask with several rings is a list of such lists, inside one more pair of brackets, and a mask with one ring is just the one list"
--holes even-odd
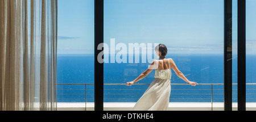
[(155, 69), (155, 79), (152, 81), (148, 89), (133, 107), (133, 110), (139, 111), (166, 111), (169, 105), (171, 94), (171, 68), (176, 75), (187, 82), (189, 85), (196, 86), (196, 82), (189, 81), (175, 65), (172, 58), (166, 58), (167, 48), (164, 44), (155, 47), (156, 56), (159, 60), (154, 60), (134, 81), (127, 82), (127, 86), (131, 86), (139, 80), (146, 77), (153, 69)]

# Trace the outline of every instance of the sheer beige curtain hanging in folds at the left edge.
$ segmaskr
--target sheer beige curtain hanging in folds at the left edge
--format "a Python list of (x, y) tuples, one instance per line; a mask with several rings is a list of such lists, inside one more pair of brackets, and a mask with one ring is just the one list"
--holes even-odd
[(57, 0), (0, 1), (0, 110), (56, 110)]

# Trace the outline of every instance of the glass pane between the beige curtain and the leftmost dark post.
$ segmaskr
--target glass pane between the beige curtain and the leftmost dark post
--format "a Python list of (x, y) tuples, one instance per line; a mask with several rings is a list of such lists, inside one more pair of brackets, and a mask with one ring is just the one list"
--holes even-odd
[(84, 110), (85, 102), (94, 104), (93, 0), (58, 2), (57, 49), (58, 107)]

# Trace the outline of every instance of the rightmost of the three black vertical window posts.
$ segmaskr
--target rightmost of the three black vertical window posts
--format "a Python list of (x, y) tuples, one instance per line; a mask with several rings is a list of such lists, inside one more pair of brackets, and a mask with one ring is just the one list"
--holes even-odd
[(238, 0), (237, 3), (237, 29), (238, 29), (238, 37), (237, 37), (237, 103), (238, 103), (238, 111), (245, 111), (246, 110), (246, 37), (245, 37), (245, 0)]

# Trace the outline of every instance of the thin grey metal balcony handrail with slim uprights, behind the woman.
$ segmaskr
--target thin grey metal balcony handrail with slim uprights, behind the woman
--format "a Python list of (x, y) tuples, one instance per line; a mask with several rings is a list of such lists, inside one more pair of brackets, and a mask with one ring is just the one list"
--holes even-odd
[[(134, 85), (150, 85), (151, 83), (135, 83)], [(85, 85), (85, 110), (86, 110), (86, 86), (94, 85), (94, 83), (57, 83), (57, 85)], [(104, 83), (104, 85), (126, 85), (126, 83)], [(171, 83), (171, 85), (189, 85), (188, 83)], [(211, 97), (210, 103), (213, 111), (213, 85), (224, 85), (224, 83), (199, 83), (199, 85), (211, 85)], [(232, 83), (237, 85), (237, 83)], [(246, 85), (256, 85), (256, 83), (246, 83)]]

